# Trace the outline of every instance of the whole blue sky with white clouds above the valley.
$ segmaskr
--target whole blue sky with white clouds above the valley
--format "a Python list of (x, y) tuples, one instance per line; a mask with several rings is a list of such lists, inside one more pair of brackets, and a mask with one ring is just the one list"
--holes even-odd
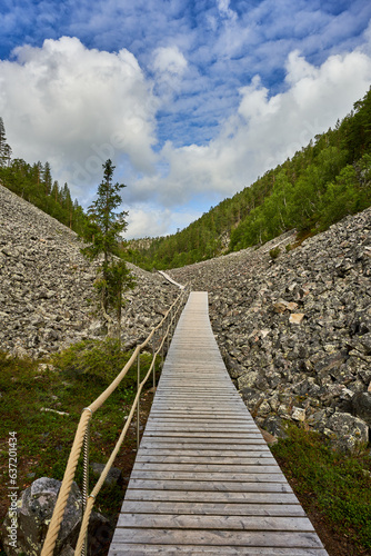
[(369, 0), (3, 0), (0, 116), (87, 206), (112, 158), (127, 237), (164, 235), (344, 117)]

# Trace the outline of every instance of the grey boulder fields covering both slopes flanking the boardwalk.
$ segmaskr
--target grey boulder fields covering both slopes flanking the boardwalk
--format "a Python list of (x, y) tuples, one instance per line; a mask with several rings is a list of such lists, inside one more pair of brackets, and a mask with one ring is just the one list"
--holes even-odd
[[(293, 247), (288, 232), (259, 249), (169, 271), (209, 291), (227, 368), (257, 423), (284, 435), (302, 423), (341, 448), (371, 427), (371, 209)], [(96, 266), (74, 232), (0, 186), (0, 349), (40, 358), (102, 337)], [(272, 259), (269, 251), (279, 246)], [(127, 348), (143, 340), (179, 288), (130, 265)]]

